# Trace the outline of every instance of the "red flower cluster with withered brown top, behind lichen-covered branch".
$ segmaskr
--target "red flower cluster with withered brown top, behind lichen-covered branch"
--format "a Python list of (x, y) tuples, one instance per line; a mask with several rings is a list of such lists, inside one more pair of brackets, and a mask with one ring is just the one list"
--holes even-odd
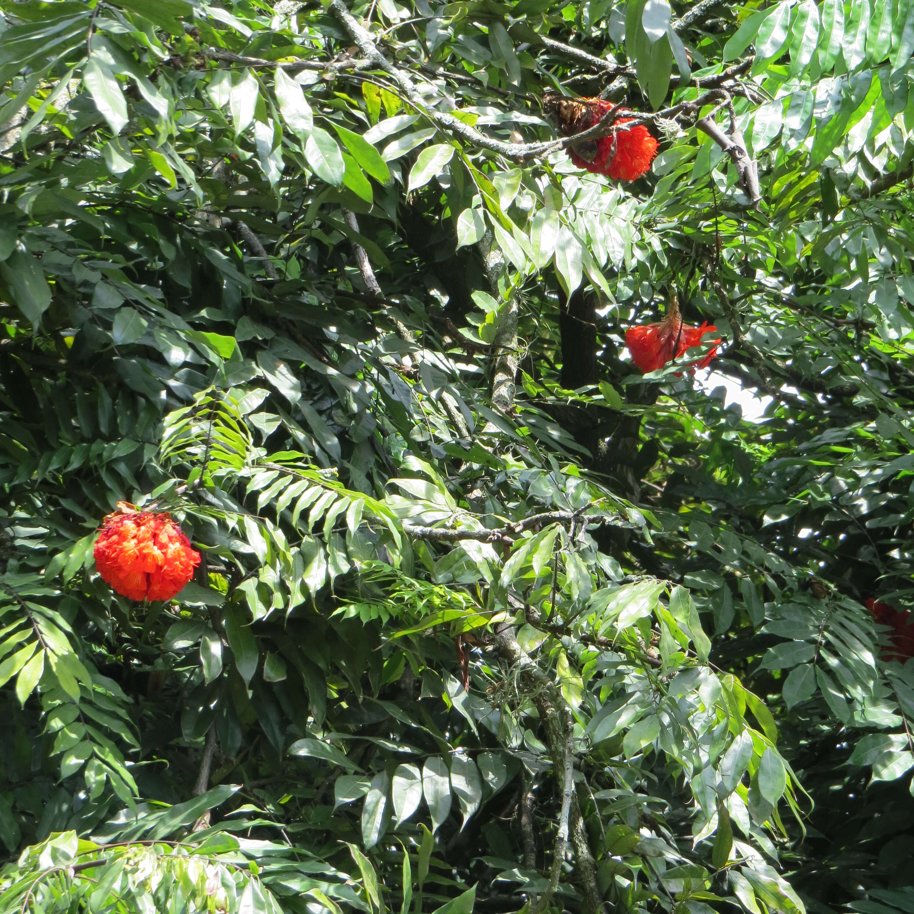
[[(547, 96), (547, 112), (553, 114), (566, 136), (590, 130), (613, 105), (603, 99), (565, 99)], [(632, 112), (625, 112), (631, 114)], [(650, 171), (659, 143), (643, 124), (625, 129), (632, 117), (613, 122), (613, 132), (596, 140), (569, 146), (569, 157), (579, 168), (596, 175), (610, 175), (617, 181), (636, 181)]]

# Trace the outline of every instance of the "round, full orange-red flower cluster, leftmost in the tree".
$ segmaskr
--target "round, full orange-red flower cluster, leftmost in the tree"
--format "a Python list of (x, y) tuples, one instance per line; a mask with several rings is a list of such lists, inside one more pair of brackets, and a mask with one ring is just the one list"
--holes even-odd
[(95, 543), (101, 578), (131, 600), (171, 600), (193, 577), (199, 552), (170, 515), (118, 508)]

